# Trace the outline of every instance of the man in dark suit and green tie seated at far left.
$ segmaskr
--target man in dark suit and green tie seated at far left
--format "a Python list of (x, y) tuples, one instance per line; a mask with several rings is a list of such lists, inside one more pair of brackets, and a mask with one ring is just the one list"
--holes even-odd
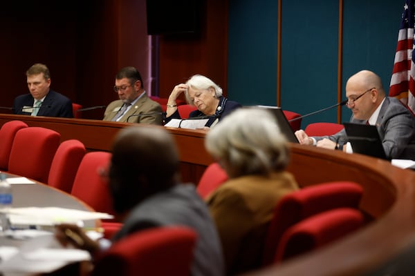
[(36, 63), (26, 71), (30, 94), (16, 97), (15, 114), (73, 118), (72, 101), (50, 89), (50, 72), (46, 65)]

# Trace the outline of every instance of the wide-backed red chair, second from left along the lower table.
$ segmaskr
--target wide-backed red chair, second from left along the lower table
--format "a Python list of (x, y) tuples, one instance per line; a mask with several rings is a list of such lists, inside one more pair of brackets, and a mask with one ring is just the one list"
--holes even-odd
[(48, 183), (50, 164), (61, 135), (55, 130), (31, 126), (16, 132), (8, 172)]

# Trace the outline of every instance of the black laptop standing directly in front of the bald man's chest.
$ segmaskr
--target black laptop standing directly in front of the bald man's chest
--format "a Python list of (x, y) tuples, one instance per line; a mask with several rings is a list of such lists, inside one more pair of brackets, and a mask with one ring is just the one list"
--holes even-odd
[(388, 159), (376, 126), (353, 123), (343, 123), (343, 125), (353, 152), (380, 159)]

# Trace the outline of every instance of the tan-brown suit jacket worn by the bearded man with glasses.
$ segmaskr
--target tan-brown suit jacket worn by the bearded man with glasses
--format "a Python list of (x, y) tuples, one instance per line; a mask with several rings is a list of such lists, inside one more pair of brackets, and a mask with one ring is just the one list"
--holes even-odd
[[(107, 106), (104, 112), (104, 121), (111, 121), (114, 116), (116, 116), (118, 110), (120, 110), (121, 106), (124, 103), (118, 99), (116, 101), (112, 101)], [(158, 113), (159, 112), (159, 113)], [(153, 115), (144, 115), (149, 113), (156, 113)], [(142, 116), (139, 114), (143, 114)], [(138, 115), (132, 116), (128, 119), (131, 115)], [(121, 117), (119, 121), (129, 123), (140, 123), (140, 124), (152, 124), (152, 125), (159, 125), (163, 126), (163, 110), (161, 106), (156, 101), (150, 99), (147, 94), (142, 95), (138, 101), (131, 106), (131, 108), (125, 112), (125, 114)]]

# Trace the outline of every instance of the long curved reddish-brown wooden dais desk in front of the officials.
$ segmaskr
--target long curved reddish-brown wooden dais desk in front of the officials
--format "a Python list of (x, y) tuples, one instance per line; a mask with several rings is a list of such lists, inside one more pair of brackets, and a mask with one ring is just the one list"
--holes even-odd
[[(131, 124), (86, 119), (62, 119), (0, 115), (0, 125), (12, 119), (29, 126), (57, 130), (62, 139), (80, 139), (89, 150), (109, 150), (113, 136)], [(136, 125), (140, 126), (140, 125)], [(203, 146), (200, 130), (167, 128), (174, 135), (181, 155), (183, 178), (194, 183), (212, 162)], [(364, 188), (360, 209), (374, 221), (339, 242), (280, 266), (250, 275), (359, 275), (406, 249), (415, 241), (415, 172), (364, 155), (291, 144), (293, 172), (301, 186), (323, 181), (351, 180)]]

